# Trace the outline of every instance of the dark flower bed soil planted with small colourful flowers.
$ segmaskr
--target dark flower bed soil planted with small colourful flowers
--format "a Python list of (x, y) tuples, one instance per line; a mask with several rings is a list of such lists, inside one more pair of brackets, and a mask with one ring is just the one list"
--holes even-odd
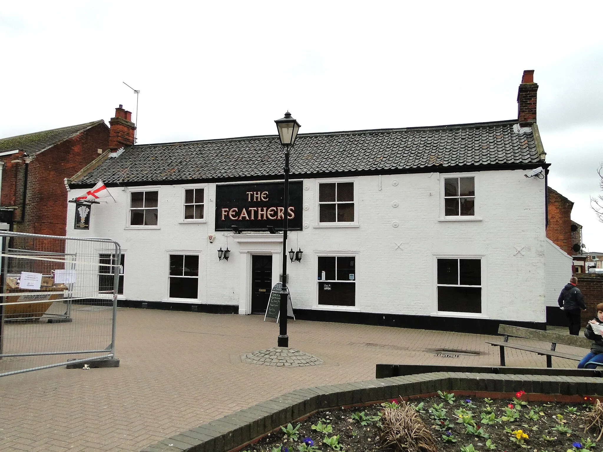
[[(470, 402), (468, 402), (470, 401)], [(587, 404), (565, 404), (557, 402), (523, 402), (524, 405), (519, 405), (520, 409), (516, 409), (518, 404), (513, 400), (493, 400), (486, 401), (484, 398), (455, 396), (453, 403), (448, 403), (441, 397), (420, 398), (411, 401), (412, 405), (417, 407), (423, 403), (422, 411), (419, 412), (421, 419), (430, 428), (435, 438), (435, 444), (438, 451), (447, 452), (472, 452), (471, 448), (464, 449), (469, 445), (473, 445), (473, 449), (479, 452), (510, 452), (510, 451), (526, 451), (526, 452), (599, 452), (603, 447), (601, 445), (592, 445), (589, 449), (584, 447), (587, 445), (586, 440), (590, 438), (593, 442), (599, 435), (596, 427), (593, 427), (590, 432), (584, 433), (584, 413), (590, 409), (590, 403)], [(468, 405), (470, 403), (470, 405)], [(434, 404), (446, 410), (444, 414), (448, 418), (449, 427), (440, 431), (437, 426), (445, 422), (443, 419), (434, 419), (434, 414), (429, 409), (434, 410)], [(508, 419), (509, 404), (513, 405), (513, 410), (516, 410), (519, 418), (512, 421)], [(499, 419), (494, 421), (494, 424), (488, 425), (482, 422), (481, 413), (490, 414), (488, 407), (494, 413), (494, 417)], [(465, 409), (472, 413), (472, 418), (475, 421), (475, 428), (482, 428), (485, 435), (489, 435), (491, 440), (490, 448), (487, 446), (487, 438), (466, 433), (467, 424), (457, 422), (459, 416), (455, 414), (455, 410)], [(572, 413), (572, 409), (577, 410)], [(372, 451), (393, 451), (392, 447), (385, 447), (382, 444), (382, 430), (379, 427), (380, 421), (368, 421), (367, 425), (361, 425), (358, 419), (353, 419), (355, 413), (364, 412), (365, 417), (379, 416), (379, 413), (384, 410), (380, 404), (365, 407), (341, 408), (337, 410), (329, 410), (315, 413), (303, 422), (294, 422), (292, 427), (296, 427), (297, 439), (290, 438), (281, 430), (280, 432), (271, 433), (265, 436), (255, 444), (247, 445), (242, 449), (243, 452), (276, 452), (281, 448), (286, 447), (288, 452), (298, 452), (306, 450), (303, 446), (303, 441), (307, 438), (312, 439), (312, 443), (318, 450), (328, 452), (333, 449), (327, 444), (323, 444), (325, 436), (332, 438), (339, 435), (338, 444), (339, 451), (346, 452), (372, 452)], [(513, 413), (513, 411), (511, 411)], [(526, 416), (532, 416), (532, 419)], [(562, 418), (559, 418), (562, 416)], [(507, 420), (504, 418), (507, 417)], [(330, 425), (332, 432), (320, 433), (316, 429), (312, 429), (312, 425), (318, 425), (321, 421), (324, 425)], [(445, 425), (445, 424), (444, 424)], [(555, 430), (559, 425), (569, 428), (572, 433), (564, 433)], [(328, 427), (327, 427), (328, 428)], [(505, 431), (505, 428), (507, 429)], [(563, 428), (563, 427), (562, 427)], [(596, 431), (595, 431), (596, 430)], [(521, 433), (519, 433), (521, 431)], [(516, 432), (516, 433), (513, 433)], [(443, 441), (443, 435), (456, 439), (453, 441)], [(525, 438), (525, 435), (528, 438)], [(523, 439), (523, 445), (511, 441), (511, 438)], [(548, 439), (543, 439), (546, 436)], [(495, 448), (491, 448), (491, 444), (495, 444)], [(579, 443), (579, 444), (578, 444)], [(463, 450), (461, 451), (461, 447)]]

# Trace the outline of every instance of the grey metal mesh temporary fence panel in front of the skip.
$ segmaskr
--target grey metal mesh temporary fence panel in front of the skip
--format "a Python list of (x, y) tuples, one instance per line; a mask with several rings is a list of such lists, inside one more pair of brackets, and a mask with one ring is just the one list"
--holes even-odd
[(0, 232), (0, 377), (115, 356), (121, 248)]

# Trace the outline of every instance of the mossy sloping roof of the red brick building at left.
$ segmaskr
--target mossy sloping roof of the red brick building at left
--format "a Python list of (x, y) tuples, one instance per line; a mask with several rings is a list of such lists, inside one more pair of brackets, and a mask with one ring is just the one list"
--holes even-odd
[(0, 138), (0, 152), (4, 151), (25, 151), (25, 154), (33, 157), (60, 142), (65, 141), (84, 130), (94, 127), (98, 124), (104, 124), (103, 119), (98, 121), (86, 122), (86, 124), (71, 125), (58, 129), (44, 130), (41, 132), (27, 133), (14, 137)]

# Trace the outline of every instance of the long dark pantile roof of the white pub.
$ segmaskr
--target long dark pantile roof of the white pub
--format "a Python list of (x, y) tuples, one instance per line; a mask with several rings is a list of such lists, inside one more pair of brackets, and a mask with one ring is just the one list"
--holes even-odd
[[(545, 165), (531, 128), (517, 120), (300, 134), (291, 176), (430, 172)], [(540, 148), (541, 149), (541, 148)], [(276, 135), (127, 146), (73, 186), (282, 177)], [(475, 168), (478, 167), (478, 168)], [(445, 170), (444, 170), (445, 171)]]

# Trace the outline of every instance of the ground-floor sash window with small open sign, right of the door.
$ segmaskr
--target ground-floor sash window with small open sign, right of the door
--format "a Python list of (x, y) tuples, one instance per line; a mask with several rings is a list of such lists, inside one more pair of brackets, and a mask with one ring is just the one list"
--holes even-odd
[(356, 257), (318, 257), (318, 304), (356, 306)]

